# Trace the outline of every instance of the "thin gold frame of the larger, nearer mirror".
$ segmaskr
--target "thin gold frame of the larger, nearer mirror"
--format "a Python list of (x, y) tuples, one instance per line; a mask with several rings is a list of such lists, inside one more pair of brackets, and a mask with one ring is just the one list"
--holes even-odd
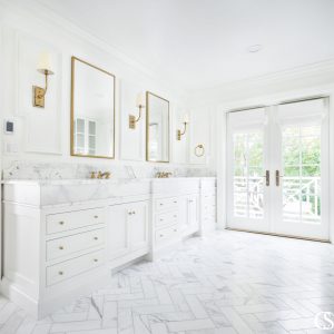
[[(106, 75), (108, 75), (108, 76), (110, 76), (112, 78), (112, 81), (114, 81), (114, 91), (112, 91), (112, 94), (114, 94), (114, 106), (112, 106), (114, 112), (111, 114), (111, 117), (114, 117), (114, 125), (112, 125), (112, 131), (114, 131), (114, 134), (112, 134), (112, 138), (114, 138), (114, 141), (112, 141), (112, 156), (80, 155), (80, 154), (76, 154), (75, 153), (75, 88), (76, 88), (76, 85), (75, 85), (75, 75), (76, 75), (76, 72), (75, 72), (75, 70), (76, 70), (75, 63), (76, 63), (76, 61), (80, 61), (80, 62), (82, 62), (82, 63), (85, 63), (87, 66), (90, 66), (94, 69), (99, 70), (99, 71), (101, 71), (101, 72), (104, 72), (104, 73), (106, 73)], [(110, 73), (110, 72), (108, 72), (108, 71), (106, 71), (106, 70), (104, 70), (104, 69), (101, 69), (101, 68), (99, 68), (97, 66), (94, 66), (94, 65), (91, 65), (91, 63), (89, 63), (89, 62), (87, 62), (87, 61), (85, 61), (82, 59), (79, 59), (79, 58), (77, 58), (75, 56), (71, 57), (70, 155), (72, 157), (115, 159), (115, 138), (116, 138), (116, 136), (115, 136), (115, 124), (116, 124), (116, 110), (115, 110), (115, 108), (116, 108), (116, 101), (115, 101), (115, 98), (116, 98), (116, 77), (115, 77), (115, 75), (112, 75), (112, 73)]]

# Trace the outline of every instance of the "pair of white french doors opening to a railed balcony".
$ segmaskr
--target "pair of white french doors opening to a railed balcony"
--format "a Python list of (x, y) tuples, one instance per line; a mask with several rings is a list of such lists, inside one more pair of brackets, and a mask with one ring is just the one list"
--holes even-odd
[(328, 239), (327, 99), (227, 118), (228, 227)]

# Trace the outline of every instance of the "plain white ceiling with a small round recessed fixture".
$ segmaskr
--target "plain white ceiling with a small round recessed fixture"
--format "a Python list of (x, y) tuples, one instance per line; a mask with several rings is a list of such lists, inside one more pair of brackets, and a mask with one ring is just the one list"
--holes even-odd
[(334, 0), (39, 2), (189, 90), (334, 58)]

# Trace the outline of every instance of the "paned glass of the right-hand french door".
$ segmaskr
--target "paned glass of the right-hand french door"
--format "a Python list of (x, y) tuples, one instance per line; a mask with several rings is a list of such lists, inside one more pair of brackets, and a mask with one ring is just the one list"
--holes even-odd
[(282, 131), (283, 219), (321, 223), (321, 126), (289, 126)]

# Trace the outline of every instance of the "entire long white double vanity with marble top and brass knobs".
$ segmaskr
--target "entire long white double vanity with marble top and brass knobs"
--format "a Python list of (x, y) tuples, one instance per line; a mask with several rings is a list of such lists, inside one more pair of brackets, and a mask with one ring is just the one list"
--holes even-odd
[(1, 293), (41, 318), (215, 222), (215, 178), (6, 181)]

